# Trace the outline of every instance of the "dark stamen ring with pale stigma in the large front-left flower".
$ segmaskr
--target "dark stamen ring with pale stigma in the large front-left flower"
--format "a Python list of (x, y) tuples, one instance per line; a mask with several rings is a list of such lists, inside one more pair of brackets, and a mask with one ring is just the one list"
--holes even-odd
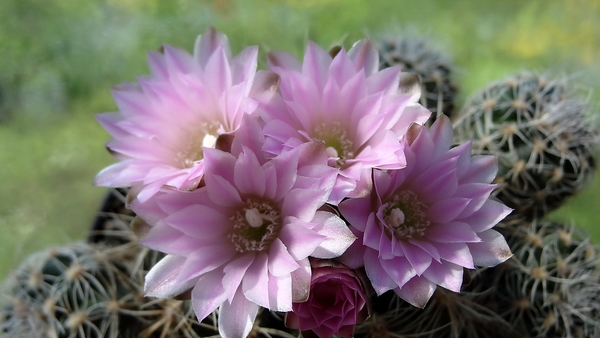
[(263, 251), (279, 236), (281, 214), (273, 203), (247, 199), (246, 205), (230, 217), (229, 239), (238, 252)]

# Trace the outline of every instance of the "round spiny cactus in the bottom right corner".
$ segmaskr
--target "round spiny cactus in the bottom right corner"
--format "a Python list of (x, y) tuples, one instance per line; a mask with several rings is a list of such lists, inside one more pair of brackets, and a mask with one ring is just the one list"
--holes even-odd
[(489, 307), (522, 337), (598, 337), (600, 257), (589, 236), (546, 220), (504, 231), (514, 256), (473, 279), (493, 286)]

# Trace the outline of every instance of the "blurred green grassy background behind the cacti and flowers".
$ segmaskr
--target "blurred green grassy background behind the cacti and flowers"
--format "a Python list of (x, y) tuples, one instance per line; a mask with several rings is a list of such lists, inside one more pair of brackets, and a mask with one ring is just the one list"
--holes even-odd
[[(350, 47), (365, 36), (418, 32), (456, 65), (466, 97), (519, 70), (568, 75), (600, 101), (599, 0), (2, 0), (0, 1), (0, 278), (29, 253), (82, 240), (113, 159), (94, 114), (116, 109), (110, 87), (148, 74), (145, 53), (191, 50), (208, 26), (234, 53), (302, 55), (308, 40)], [(598, 179), (553, 214), (600, 242)]]

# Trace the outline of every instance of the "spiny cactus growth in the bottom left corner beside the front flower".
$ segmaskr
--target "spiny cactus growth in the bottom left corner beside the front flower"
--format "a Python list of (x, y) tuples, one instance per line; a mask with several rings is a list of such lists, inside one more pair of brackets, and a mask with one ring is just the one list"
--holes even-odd
[[(159, 259), (132, 245), (74, 243), (30, 256), (4, 282), (0, 336), (166, 338), (217, 334), (189, 301), (144, 297), (145, 267)], [(162, 255), (160, 256), (162, 257)], [(152, 263), (152, 262), (145, 262)]]

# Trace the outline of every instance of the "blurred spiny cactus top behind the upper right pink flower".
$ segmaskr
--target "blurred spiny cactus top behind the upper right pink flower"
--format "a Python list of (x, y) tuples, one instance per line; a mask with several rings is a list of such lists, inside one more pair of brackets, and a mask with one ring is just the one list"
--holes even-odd
[(421, 80), (421, 105), (432, 114), (428, 124), (454, 111), (458, 86), (452, 79), (450, 57), (430, 48), (429, 42), (414, 34), (387, 35), (377, 39), (380, 69), (399, 66), (402, 72), (417, 75)]

